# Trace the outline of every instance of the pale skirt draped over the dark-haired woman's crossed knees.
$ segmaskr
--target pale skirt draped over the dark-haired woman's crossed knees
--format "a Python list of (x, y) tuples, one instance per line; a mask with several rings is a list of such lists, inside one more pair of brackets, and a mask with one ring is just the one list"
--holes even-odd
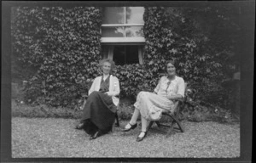
[(137, 110), (140, 110), (143, 118), (149, 121), (160, 120), (164, 110), (173, 111), (174, 108), (172, 100), (148, 92), (138, 93), (134, 106)]

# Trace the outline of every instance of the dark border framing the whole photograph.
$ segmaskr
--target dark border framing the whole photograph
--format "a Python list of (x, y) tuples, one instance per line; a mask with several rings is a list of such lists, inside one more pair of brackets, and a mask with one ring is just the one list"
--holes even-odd
[[(11, 154), (11, 8), (15, 6), (207, 6), (241, 7), (241, 156), (238, 158), (12, 158)], [(2, 1), (1, 162), (251, 162), (253, 157), (254, 1)]]

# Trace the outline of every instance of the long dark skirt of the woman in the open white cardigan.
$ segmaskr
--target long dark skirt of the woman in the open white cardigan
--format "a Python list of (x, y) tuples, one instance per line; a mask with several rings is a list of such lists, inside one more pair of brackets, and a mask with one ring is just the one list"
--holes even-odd
[(107, 133), (112, 129), (115, 117), (116, 106), (113, 100), (105, 93), (93, 92), (87, 98), (84, 106), (82, 122), (84, 131), (90, 135), (98, 130)]

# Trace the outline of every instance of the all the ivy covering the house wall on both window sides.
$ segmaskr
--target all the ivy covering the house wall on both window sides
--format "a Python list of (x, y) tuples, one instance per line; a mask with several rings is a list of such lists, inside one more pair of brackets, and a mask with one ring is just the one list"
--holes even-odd
[[(121, 98), (134, 100), (139, 91), (153, 91), (166, 73), (166, 60), (174, 59), (177, 75), (189, 83), (189, 104), (226, 107), (230, 90), (222, 83), (235, 71), (230, 55), (238, 28), (224, 13), (227, 8), (216, 10), (146, 7), (144, 64), (118, 65), (113, 71)], [(26, 100), (73, 106), (86, 91), (75, 82), (77, 76), (91, 81), (100, 74), (102, 8), (15, 8), (13, 15), (12, 73), (28, 81)]]

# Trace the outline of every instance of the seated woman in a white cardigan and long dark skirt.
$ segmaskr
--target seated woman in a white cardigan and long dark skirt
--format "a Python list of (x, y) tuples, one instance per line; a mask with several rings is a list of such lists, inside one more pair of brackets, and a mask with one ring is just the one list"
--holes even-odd
[(119, 104), (119, 98), (117, 98), (120, 92), (119, 80), (110, 75), (114, 62), (110, 59), (102, 59), (99, 66), (103, 74), (93, 81), (84, 105), (81, 123), (76, 126), (76, 129), (84, 129), (90, 134), (90, 140), (112, 129)]

